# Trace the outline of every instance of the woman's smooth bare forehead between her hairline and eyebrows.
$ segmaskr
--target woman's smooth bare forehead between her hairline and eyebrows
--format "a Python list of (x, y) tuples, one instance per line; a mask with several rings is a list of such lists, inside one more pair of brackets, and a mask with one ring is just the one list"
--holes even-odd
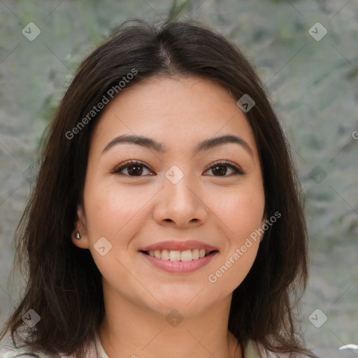
[(213, 80), (199, 77), (149, 78), (127, 88), (103, 111), (92, 147), (103, 150), (121, 134), (154, 138), (169, 151), (234, 134), (256, 152), (252, 129), (234, 96)]

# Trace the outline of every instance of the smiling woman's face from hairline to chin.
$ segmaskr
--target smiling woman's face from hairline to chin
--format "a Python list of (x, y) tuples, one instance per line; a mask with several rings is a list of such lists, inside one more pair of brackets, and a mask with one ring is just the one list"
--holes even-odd
[(106, 296), (182, 315), (229, 299), (264, 224), (257, 145), (234, 97), (196, 77), (122, 92), (94, 130), (78, 215), (73, 243), (90, 249)]

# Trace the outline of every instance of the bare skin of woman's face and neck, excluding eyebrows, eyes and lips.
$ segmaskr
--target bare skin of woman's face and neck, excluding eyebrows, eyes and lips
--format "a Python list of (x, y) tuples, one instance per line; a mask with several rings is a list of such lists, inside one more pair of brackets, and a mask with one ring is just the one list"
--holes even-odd
[[(121, 143), (102, 154), (122, 134), (162, 142), (166, 153)], [(243, 138), (252, 154), (225, 143), (193, 155), (200, 141), (227, 134)], [(129, 159), (145, 163), (139, 175), (128, 168), (122, 175), (110, 173)], [(220, 175), (212, 165), (217, 160), (230, 161), (245, 175), (225, 164), (221, 169), (227, 172)], [(165, 176), (173, 165), (184, 173), (176, 184)], [(215, 283), (208, 276), (264, 220), (257, 144), (228, 90), (208, 79), (159, 77), (129, 87), (110, 102), (90, 145), (84, 206), (78, 206), (73, 231), (80, 231), (81, 239), (72, 238), (74, 245), (90, 250), (103, 275), (106, 317), (99, 338), (108, 356), (242, 357), (227, 329), (229, 308), (260, 240), (252, 241)], [(101, 237), (112, 245), (104, 256), (94, 249)], [(194, 273), (167, 273), (138, 252), (145, 245), (186, 238), (209, 243), (219, 254)], [(176, 327), (166, 320), (173, 309), (183, 317)]]

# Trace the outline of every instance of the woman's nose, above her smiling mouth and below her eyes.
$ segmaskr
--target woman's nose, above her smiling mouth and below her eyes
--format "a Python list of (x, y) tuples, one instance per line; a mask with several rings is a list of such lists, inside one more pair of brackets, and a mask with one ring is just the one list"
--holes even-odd
[(154, 219), (159, 224), (180, 228), (197, 227), (208, 217), (208, 206), (203, 196), (203, 190), (194, 185), (189, 176), (183, 176), (176, 183), (164, 178), (153, 212)]

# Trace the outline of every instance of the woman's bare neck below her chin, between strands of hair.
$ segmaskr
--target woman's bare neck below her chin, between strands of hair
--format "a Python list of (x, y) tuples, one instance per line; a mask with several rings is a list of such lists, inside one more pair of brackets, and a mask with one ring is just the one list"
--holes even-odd
[(231, 295), (197, 315), (174, 314), (173, 320), (121, 297), (115, 301), (110, 297), (105, 295), (106, 317), (99, 327), (101, 344), (110, 358), (242, 357), (227, 329)]

